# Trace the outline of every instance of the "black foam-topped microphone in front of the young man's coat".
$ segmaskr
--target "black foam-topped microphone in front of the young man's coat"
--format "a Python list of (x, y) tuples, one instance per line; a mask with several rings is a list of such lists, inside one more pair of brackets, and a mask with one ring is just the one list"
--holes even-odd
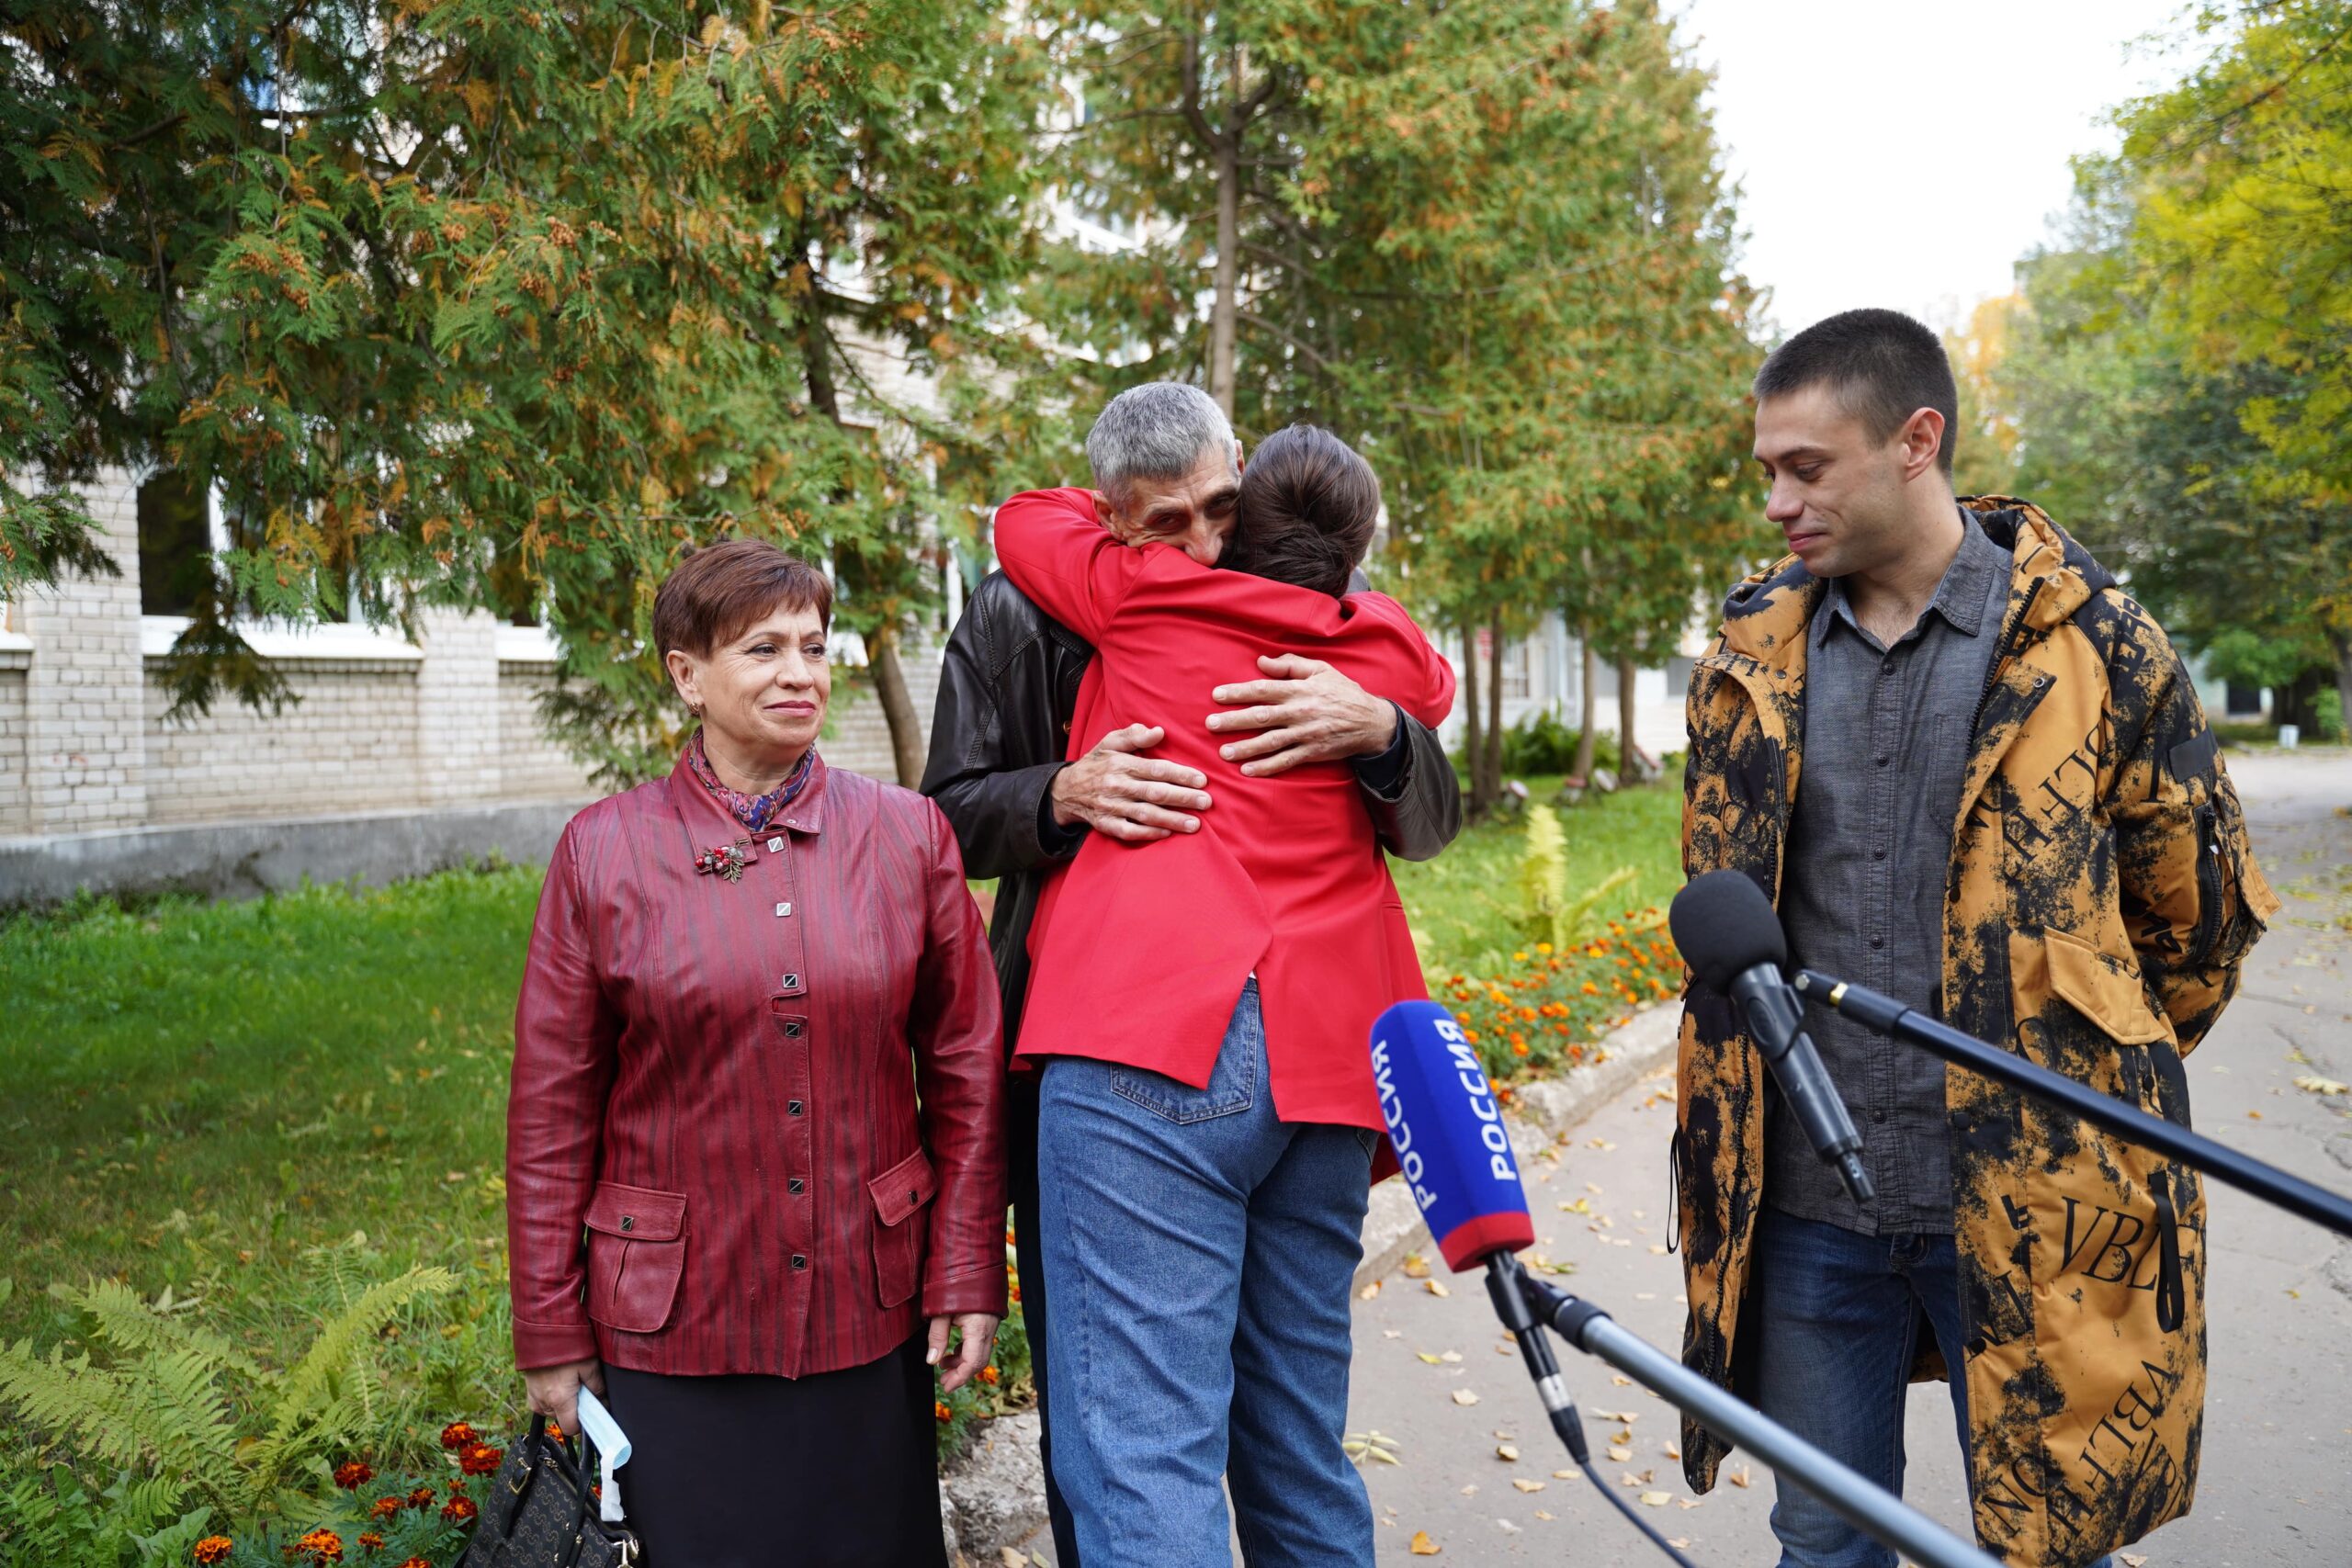
[(1788, 969), (1788, 938), (1780, 936), (1771, 898), (1743, 872), (1708, 872), (1675, 893), (1665, 924), (1698, 983), (1729, 992), (1748, 1013), (1748, 1032), (1771, 1065), (1780, 1098), (1797, 1112), (1813, 1154), (1837, 1171), (1856, 1204), (1867, 1204), (1877, 1187), (1863, 1171), (1863, 1135), (1853, 1131), (1853, 1117), (1837, 1098), (1813, 1037), (1804, 1032), (1804, 1004), (1780, 976)]

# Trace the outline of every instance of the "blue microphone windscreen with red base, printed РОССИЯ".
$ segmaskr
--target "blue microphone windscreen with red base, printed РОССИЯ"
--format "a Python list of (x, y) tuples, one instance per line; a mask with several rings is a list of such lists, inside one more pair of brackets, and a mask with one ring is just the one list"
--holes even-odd
[(1435, 1001), (1399, 1001), (1371, 1025), (1371, 1081), (1421, 1218), (1456, 1274), (1536, 1241), (1503, 1107), (1477, 1048)]

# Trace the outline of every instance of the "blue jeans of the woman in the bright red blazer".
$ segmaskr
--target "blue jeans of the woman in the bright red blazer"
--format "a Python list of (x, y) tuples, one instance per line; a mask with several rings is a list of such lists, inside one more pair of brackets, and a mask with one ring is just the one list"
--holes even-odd
[(1207, 1088), (1047, 1065), (1047, 1399), (1087, 1568), (1230, 1568), (1235, 1533), (1254, 1568), (1369, 1568), (1371, 1500), (1341, 1439), (1374, 1143), (1275, 1119), (1256, 980)]

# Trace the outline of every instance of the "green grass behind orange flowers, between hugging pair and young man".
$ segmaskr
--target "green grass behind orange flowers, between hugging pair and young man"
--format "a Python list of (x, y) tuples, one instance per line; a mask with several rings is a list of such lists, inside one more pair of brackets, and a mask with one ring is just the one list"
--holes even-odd
[[(1529, 778), (1529, 799), (1548, 802), (1557, 778)], [(1599, 889), (1621, 870), (1632, 875), (1592, 907), (1588, 931), (1602, 931), (1628, 910), (1665, 910), (1682, 886), (1682, 788), (1665, 780), (1616, 795), (1585, 797), (1559, 809), (1569, 839), (1569, 898)], [(1435, 985), (1442, 976), (1498, 976), (1524, 945), (1519, 929), (1522, 823), (1479, 823), (1446, 853), (1421, 865), (1392, 863), (1404, 912), (1421, 940), (1421, 964)]]

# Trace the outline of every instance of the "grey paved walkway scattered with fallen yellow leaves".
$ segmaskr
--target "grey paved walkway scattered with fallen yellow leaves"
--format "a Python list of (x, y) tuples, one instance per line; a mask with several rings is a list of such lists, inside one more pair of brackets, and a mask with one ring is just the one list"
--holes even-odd
[[(2352, 755), (2232, 755), (2230, 769), (2286, 910), (2249, 961), (2239, 999), (2190, 1058), (2197, 1126), (2352, 1192), (2352, 1095), (2293, 1086), (2305, 1074), (2352, 1079)], [(1663, 1251), (1675, 1110), (1658, 1091), (1668, 1084), (1656, 1074), (1616, 1095), (1559, 1145), (1557, 1164), (1534, 1161), (1529, 1199), (1538, 1251), (1573, 1265), (1576, 1288), (1621, 1324), (1672, 1349), (1682, 1342), (1682, 1272)], [(2192, 1516), (2133, 1556), (2197, 1568), (2343, 1568), (2352, 1563), (2352, 1246), (2218, 1182), (2209, 1194), (2204, 1476)], [(1411, 1540), (1425, 1530), (1451, 1563), (1663, 1563), (1583, 1476), (1552, 1474), (1569, 1460), (1517, 1356), (1503, 1354), (1479, 1276), (1442, 1284), (1451, 1291), (1444, 1298), (1395, 1272), (1355, 1314), (1348, 1425), (1385, 1434), (1397, 1453), (1397, 1465), (1367, 1467), (1378, 1561), (1423, 1561)], [(1635, 1476), (1635, 1493), (1668, 1493), (1644, 1512), (1686, 1540), (1693, 1561), (1778, 1561), (1766, 1523), (1771, 1472), (1733, 1455), (1726, 1474), (1745, 1474), (1750, 1486), (1719, 1483), (1693, 1497), (1670, 1458), (1675, 1413), (1606, 1366), (1562, 1356), (1602, 1472), (1613, 1483)], [(1468, 1396), (1475, 1403), (1463, 1403)], [(1604, 1458), (1611, 1441), (1623, 1460)], [(1964, 1526), (1943, 1385), (1912, 1389), (1907, 1446), (1912, 1502)]]

